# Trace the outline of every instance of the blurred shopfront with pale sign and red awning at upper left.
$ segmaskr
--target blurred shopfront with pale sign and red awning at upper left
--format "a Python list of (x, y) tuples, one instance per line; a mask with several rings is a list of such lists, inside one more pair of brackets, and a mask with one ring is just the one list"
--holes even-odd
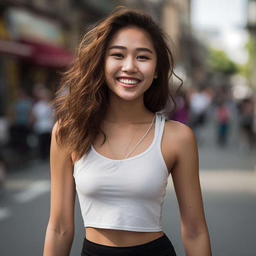
[(0, 2), (0, 115), (15, 100), (18, 88), (31, 93), (35, 83), (52, 87), (56, 70), (67, 67), (69, 21), (56, 1)]

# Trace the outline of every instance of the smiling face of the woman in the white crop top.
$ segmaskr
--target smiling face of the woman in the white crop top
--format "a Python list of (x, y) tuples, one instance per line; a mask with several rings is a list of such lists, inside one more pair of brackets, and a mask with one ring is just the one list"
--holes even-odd
[(156, 73), (157, 54), (146, 31), (124, 27), (117, 31), (104, 55), (104, 75), (110, 97), (131, 101), (143, 97)]

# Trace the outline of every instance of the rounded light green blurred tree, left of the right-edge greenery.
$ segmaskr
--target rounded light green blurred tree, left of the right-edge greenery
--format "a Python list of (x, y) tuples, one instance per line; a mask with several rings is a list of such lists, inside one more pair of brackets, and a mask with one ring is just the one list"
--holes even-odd
[(220, 49), (209, 48), (209, 68), (223, 75), (238, 73), (238, 65), (231, 61), (227, 54)]

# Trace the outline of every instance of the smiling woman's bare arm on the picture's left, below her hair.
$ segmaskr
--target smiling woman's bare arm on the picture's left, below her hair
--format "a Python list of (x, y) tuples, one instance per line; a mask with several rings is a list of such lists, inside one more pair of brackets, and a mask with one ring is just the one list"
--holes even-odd
[(51, 210), (43, 256), (68, 256), (74, 238), (75, 183), (71, 156), (56, 142), (52, 131), (50, 150)]

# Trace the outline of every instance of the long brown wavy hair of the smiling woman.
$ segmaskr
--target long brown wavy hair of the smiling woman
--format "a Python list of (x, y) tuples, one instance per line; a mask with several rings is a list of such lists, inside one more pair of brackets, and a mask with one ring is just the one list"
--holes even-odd
[[(157, 78), (144, 93), (146, 108), (152, 112), (161, 112), (170, 106), (175, 107), (170, 78), (177, 75), (173, 72), (171, 38), (148, 13), (117, 7), (110, 16), (97, 22), (95, 27), (85, 33), (76, 58), (64, 73), (52, 103), (58, 121), (57, 142), (68, 152), (74, 153), (74, 161), (87, 153), (94, 139), (103, 133), (101, 124), (108, 107), (109, 94), (104, 79), (104, 53), (112, 36), (128, 26), (144, 29), (150, 35), (157, 52)], [(182, 80), (177, 78), (182, 84)]]

